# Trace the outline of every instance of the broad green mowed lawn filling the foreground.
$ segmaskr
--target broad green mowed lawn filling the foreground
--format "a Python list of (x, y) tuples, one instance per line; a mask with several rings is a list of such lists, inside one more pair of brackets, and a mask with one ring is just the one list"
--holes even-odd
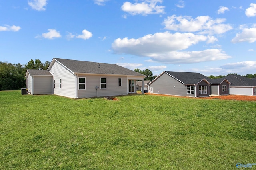
[[(256, 102), (0, 92), (0, 169), (236, 169), (256, 163)], [(256, 168), (252, 166), (252, 168)]]

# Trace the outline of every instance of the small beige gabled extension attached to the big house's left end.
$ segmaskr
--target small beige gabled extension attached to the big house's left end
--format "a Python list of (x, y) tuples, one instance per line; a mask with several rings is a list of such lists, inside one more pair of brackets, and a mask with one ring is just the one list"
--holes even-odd
[(30, 70), (26, 72), (28, 94), (53, 94), (53, 78), (47, 70)]

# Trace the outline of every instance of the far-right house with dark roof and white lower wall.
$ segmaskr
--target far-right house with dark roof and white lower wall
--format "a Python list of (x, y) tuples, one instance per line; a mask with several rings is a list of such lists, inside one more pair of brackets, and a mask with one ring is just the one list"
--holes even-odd
[(226, 78), (230, 84), (230, 94), (254, 96), (256, 95), (256, 80), (240, 75), (228, 75)]

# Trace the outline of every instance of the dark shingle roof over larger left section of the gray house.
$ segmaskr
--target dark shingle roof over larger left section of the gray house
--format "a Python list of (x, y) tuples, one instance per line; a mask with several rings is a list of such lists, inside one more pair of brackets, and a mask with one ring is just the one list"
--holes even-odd
[(165, 71), (165, 72), (175, 77), (176, 79), (180, 80), (184, 84), (198, 84), (203, 79), (206, 79), (208, 81), (208, 77), (196, 72), (174, 72), (174, 71)]

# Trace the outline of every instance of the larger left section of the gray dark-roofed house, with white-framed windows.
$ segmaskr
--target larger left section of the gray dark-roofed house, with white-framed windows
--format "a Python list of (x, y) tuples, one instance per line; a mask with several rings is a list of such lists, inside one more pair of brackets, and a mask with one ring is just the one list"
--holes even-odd
[(164, 71), (149, 83), (150, 93), (206, 97), (210, 95), (207, 79), (200, 73)]

